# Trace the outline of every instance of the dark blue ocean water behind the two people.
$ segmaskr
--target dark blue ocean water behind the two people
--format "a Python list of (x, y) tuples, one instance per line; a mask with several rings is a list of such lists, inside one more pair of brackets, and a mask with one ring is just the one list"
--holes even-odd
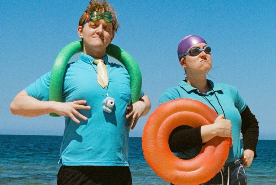
[[(0, 185), (52, 185), (60, 168), (62, 136), (0, 135)], [(276, 140), (259, 140), (257, 158), (247, 169), (249, 185), (276, 184)], [(147, 165), (141, 138), (130, 138), (133, 185), (169, 185)]]

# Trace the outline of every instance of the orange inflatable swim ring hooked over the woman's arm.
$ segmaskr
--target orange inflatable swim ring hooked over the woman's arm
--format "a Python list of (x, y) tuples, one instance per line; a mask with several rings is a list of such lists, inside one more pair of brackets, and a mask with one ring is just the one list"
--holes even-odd
[(183, 160), (170, 150), (171, 132), (180, 125), (198, 127), (212, 124), (216, 112), (202, 102), (179, 98), (162, 104), (147, 119), (142, 135), (145, 159), (162, 179), (177, 185), (207, 182), (223, 167), (231, 146), (231, 138), (214, 137), (206, 142), (193, 159)]

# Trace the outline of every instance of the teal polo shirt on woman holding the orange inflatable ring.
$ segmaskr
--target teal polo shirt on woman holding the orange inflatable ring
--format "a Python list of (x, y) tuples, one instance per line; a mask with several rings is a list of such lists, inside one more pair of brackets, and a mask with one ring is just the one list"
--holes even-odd
[[(238, 93), (236, 87), (233, 87), (224, 83), (213, 83), (207, 80), (210, 87), (213, 90), (209, 90), (206, 94), (200, 93), (199, 90), (189, 85), (184, 80), (180, 81), (177, 87), (167, 89), (161, 96), (159, 104), (165, 103), (177, 98), (190, 98), (205, 103), (213, 110), (216, 110), (218, 114), (225, 113), (226, 119), (231, 120), (232, 134), (233, 134), (233, 147), (229, 149), (229, 155), (226, 162), (232, 162), (241, 158), (243, 154), (243, 148), (241, 147), (241, 113), (246, 108), (247, 104), (244, 99)], [(215, 92), (215, 93), (214, 93)], [(217, 96), (217, 98), (215, 97)], [(207, 101), (210, 101), (210, 103)], [(219, 105), (221, 104), (221, 106)], [(223, 110), (222, 110), (223, 109)], [(191, 151), (193, 152), (193, 151)], [(179, 157), (186, 157), (184, 154), (179, 154)], [(193, 156), (191, 154), (190, 156)]]

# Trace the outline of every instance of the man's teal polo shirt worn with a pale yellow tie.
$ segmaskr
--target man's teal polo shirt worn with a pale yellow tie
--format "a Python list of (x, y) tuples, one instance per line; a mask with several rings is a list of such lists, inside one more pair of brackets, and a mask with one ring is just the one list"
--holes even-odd
[[(88, 60), (90, 59), (90, 62)], [(106, 90), (98, 84), (94, 58), (81, 54), (80, 60), (67, 65), (62, 98), (64, 102), (86, 100), (91, 110), (78, 110), (88, 118), (80, 124), (65, 117), (65, 129), (60, 150), (60, 163), (66, 166), (129, 166), (129, 129), (126, 107), (130, 105), (130, 77), (125, 67), (108, 63), (107, 92), (115, 99), (111, 113), (103, 111)], [(36, 80), (25, 91), (42, 101), (49, 100), (50, 73)], [(144, 95), (141, 91), (141, 97)], [(77, 117), (78, 119), (78, 117)]]

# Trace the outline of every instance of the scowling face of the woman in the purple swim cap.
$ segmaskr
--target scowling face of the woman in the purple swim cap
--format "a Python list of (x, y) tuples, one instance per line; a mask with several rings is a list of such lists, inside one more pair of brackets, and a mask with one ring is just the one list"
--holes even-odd
[[(199, 49), (203, 49), (207, 44), (198, 43), (189, 48), (197, 47)], [(186, 55), (184, 58), (180, 60), (181, 65), (185, 68), (186, 74), (190, 73), (204, 73), (206, 74), (212, 69), (212, 57), (211, 54), (205, 53), (205, 51), (201, 51), (196, 56)]]

